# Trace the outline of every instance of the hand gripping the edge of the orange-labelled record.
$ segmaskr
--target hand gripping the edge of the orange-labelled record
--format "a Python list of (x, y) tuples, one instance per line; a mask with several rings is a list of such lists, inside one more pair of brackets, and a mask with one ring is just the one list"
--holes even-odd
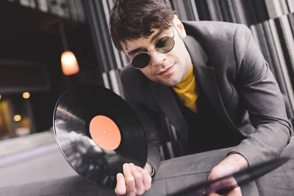
[(115, 193), (118, 196), (141, 196), (151, 188), (151, 166), (147, 163), (145, 169), (134, 164), (125, 163), (123, 174), (117, 174)]

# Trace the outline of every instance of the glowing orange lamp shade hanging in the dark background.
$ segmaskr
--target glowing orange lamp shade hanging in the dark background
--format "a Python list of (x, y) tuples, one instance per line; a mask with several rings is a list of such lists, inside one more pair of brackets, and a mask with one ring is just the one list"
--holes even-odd
[(73, 52), (65, 51), (61, 54), (61, 68), (65, 75), (73, 75), (79, 72), (79, 67)]

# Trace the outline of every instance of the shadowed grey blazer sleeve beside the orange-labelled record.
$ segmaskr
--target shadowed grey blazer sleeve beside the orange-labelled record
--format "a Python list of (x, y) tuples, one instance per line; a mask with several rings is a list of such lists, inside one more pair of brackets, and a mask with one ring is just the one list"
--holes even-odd
[(161, 127), (161, 118), (160, 116), (148, 108), (146, 105), (136, 101), (127, 91), (127, 87), (123, 82), (124, 94), (126, 97), (127, 103), (134, 109), (136, 115), (138, 116), (140, 123), (142, 124), (143, 130), (147, 139), (147, 149), (148, 156), (147, 162), (152, 167), (153, 172), (151, 176), (154, 177), (156, 174), (161, 159), (160, 159), (160, 139), (158, 136), (158, 131)]

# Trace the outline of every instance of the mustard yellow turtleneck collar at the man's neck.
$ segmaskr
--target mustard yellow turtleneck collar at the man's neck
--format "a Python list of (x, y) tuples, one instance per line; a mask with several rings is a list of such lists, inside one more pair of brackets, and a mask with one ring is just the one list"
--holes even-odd
[(193, 65), (189, 73), (180, 81), (180, 83), (172, 88), (179, 96), (181, 102), (193, 112), (197, 113), (196, 100), (199, 96), (199, 92), (193, 72)]

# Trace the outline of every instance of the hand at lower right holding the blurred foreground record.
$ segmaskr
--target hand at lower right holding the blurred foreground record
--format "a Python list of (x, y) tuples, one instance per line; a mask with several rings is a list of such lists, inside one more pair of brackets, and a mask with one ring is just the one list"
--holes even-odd
[[(237, 153), (231, 154), (212, 169), (212, 171), (210, 172), (208, 176), (208, 180), (210, 181), (210, 180), (221, 178), (223, 176), (232, 174), (234, 172), (238, 172), (241, 169), (246, 167), (248, 167), (248, 163), (242, 155)], [(221, 183), (223, 182), (221, 181)], [(237, 184), (237, 181), (233, 177), (230, 177), (228, 179), (225, 179), (225, 183), (228, 184), (228, 186), (233, 186)], [(220, 195), (216, 193), (212, 193), (209, 196), (220, 196)], [(237, 187), (233, 189), (226, 196), (242, 196), (241, 188)]]

